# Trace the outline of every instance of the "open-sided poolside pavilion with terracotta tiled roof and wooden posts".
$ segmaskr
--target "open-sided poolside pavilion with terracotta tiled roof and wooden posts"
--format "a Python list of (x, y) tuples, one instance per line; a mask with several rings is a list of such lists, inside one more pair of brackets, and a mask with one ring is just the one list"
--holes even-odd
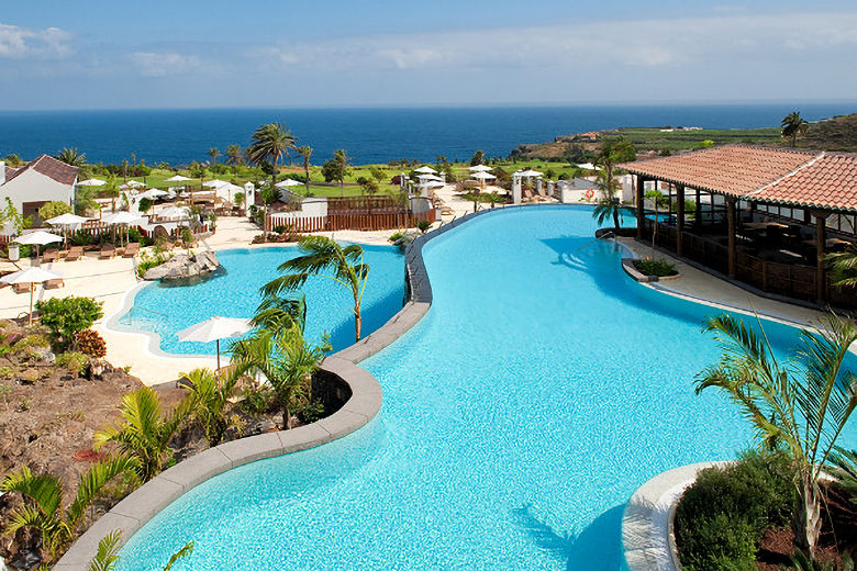
[[(675, 250), (685, 255), (689, 238), (686, 216), (686, 197), (695, 194), (694, 226), (702, 224), (703, 198), (724, 201), (727, 236), (727, 273), (736, 277), (738, 205), (766, 215), (776, 209), (780, 217), (800, 224), (814, 224), (815, 243), (815, 299), (827, 301), (825, 254), (828, 220), (838, 220), (835, 231), (854, 238), (857, 225), (857, 155), (843, 153), (816, 153), (748, 145), (727, 145), (674, 157), (621, 165), (636, 176), (637, 238), (644, 237), (647, 226), (643, 208), (646, 182), (656, 186), (668, 183), (668, 193), (676, 195)], [(672, 201), (670, 200), (670, 212)], [(782, 216), (787, 211), (789, 215)], [(843, 217), (847, 228), (843, 229)], [(654, 227), (660, 227), (654, 221)], [(694, 228), (697, 229), (697, 228)], [(703, 261), (704, 264), (704, 261)]]

